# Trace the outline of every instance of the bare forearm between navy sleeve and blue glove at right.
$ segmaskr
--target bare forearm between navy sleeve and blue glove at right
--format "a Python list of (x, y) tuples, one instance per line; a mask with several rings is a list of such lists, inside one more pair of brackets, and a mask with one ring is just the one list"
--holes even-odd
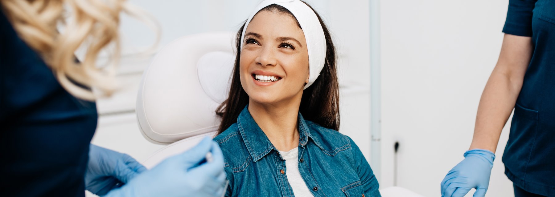
[(480, 98), (470, 149), (496, 151), (501, 130), (514, 108), (532, 55), (532, 39), (505, 34), (497, 65)]

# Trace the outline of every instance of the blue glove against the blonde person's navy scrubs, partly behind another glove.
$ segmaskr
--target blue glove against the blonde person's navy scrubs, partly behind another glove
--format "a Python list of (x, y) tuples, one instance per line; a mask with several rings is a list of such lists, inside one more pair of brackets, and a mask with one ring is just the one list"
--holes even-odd
[(147, 168), (127, 154), (90, 144), (85, 189), (105, 195), (145, 170)]

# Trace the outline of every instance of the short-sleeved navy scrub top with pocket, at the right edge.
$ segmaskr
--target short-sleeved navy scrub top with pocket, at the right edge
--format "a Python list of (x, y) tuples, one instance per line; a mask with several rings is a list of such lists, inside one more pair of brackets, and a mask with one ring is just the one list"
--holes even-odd
[(503, 153), (505, 174), (528, 192), (555, 196), (555, 1), (510, 0), (503, 32), (533, 43)]

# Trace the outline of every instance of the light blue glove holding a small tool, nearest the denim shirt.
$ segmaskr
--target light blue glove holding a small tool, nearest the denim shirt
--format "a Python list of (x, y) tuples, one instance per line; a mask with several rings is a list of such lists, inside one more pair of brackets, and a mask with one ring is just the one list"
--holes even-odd
[[(206, 162), (206, 154), (212, 160)], [(224, 193), (224, 155), (206, 137), (189, 151), (165, 159), (107, 196), (218, 196)]]

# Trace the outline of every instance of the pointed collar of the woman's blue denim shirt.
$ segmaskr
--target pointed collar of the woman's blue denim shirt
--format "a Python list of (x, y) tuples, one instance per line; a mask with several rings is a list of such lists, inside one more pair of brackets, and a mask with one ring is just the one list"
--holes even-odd
[[(251, 158), (254, 162), (257, 162), (263, 158), (266, 154), (270, 153), (273, 149), (278, 151), (274, 145), (268, 139), (268, 136), (262, 131), (258, 124), (254, 121), (253, 116), (250, 115), (248, 110), (249, 105), (245, 106), (243, 111), (237, 117), (237, 126), (239, 127), (239, 133), (243, 137), (246, 148), (249, 150)], [(299, 146), (304, 147), (308, 142), (310, 137), (316, 146), (320, 147), (319, 139), (315, 139), (310, 134), (310, 129), (306, 125), (304, 118), (302, 118), (299, 112), (299, 117), (297, 118), (299, 125)]]

